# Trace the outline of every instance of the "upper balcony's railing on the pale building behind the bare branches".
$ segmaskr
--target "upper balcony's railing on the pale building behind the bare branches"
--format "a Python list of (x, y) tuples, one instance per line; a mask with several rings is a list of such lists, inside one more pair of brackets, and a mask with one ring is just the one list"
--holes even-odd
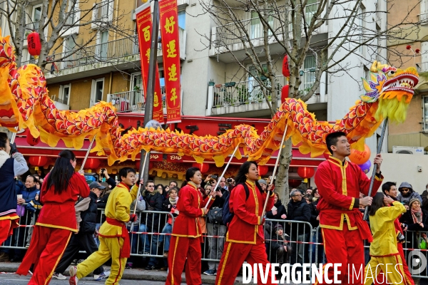
[[(305, 21), (307, 24), (312, 20), (313, 15), (318, 9), (319, 3), (309, 4), (305, 7)], [(275, 19), (274, 16), (267, 16), (267, 23), (272, 27), (274, 31), (281, 31), (282, 23)], [(242, 25), (242, 26), (241, 26)], [(253, 18), (241, 21), (240, 26), (235, 23), (226, 24), (225, 26), (215, 27), (215, 41), (213, 44), (215, 48), (220, 46), (229, 46), (235, 43), (242, 43), (241, 35), (242, 28), (248, 33), (248, 40), (262, 40), (263, 39), (263, 24), (260, 21), (260, 18)], [(292, 26), (290, 24), (289, 31), (292, 31)], [(269, 36), (271, 36), (271, 31), (269, 31)]]

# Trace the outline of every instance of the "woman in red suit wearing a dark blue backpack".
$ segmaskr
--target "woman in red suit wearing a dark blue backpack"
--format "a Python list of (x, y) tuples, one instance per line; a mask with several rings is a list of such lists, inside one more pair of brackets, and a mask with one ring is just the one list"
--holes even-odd
[[(236, 186), (230, 193), (229, 209), (234, 216), (232, 222), (228, 225), (228, 234), (223, 254), (218, 264), (217, 277), (215, 284), (229, 285), (235, 282), (244, 261), (248, 264), (268, 264), (265, 233), (263, 223), (260, 223), (260, 216), (263, 213), (265, 200), (267, 209), (271, 209), (274, 203), (274, 192), (270, 197), (262, 190), (258, 183), (258, 165), (253, 161), (244, 162), (240, 167), (238, 175), (235, 177)], [(246, 184), (249, 195), (245, 193), (243, 184)], [(269, 186), (272, 189), (272, 185)], [(260, 274), (258, 276), (259, 284)], [(270, 270), (267, 276), (267, 283), (272, 284)]]

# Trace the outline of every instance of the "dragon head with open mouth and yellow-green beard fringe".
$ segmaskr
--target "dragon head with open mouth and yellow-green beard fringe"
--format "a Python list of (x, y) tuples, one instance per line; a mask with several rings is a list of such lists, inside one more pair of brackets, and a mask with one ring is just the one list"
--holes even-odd
[(366, 103), (379, 101), (375, 114), (377, 120), (388, 117), (397, 123), (404, 122), (414, 86), (419, 82), (416, 68), (409, 67), (403, 71), (374, 61), (370, 71), (370, 81), (362, 78), (366, 93), (360, 96), (361, 100)]

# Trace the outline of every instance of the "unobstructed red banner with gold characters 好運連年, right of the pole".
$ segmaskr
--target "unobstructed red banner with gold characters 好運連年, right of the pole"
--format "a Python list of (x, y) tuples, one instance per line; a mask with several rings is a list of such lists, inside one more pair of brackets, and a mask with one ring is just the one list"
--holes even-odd
[(163, 70), (165, 73), (166, 123), (181, 122), (180, 44), (177, 0), (159, 1)]

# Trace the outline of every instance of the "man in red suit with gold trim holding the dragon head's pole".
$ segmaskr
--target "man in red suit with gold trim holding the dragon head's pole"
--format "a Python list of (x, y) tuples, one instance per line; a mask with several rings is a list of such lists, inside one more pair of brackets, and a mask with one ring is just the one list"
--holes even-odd
[[(327, 135), (326, 143), (332, 155), (321, 162), (315, 173), (315, 184), (320, 193), (317, 210), (320, 212), (325, 255), (329, 263), (342, 264), (338, 268), (341, 271), (338, 280), (341, 280), (342, 284), (364, 284), (362, 280), (364, 274), (358, 277), (357, 274), (361, 269), (364, 273), (363, 240), (368, 239), (372, 242), (372, 233), (367, 222), (362, 220), (362, 213), (358, 207), (372, 204), (372, 197), (376, 195), (383, 178), (380, 173), (382, 157), (377, 155), (374, 158), (377, 172), (372, 197), (368, 197), (370, 179), (358, 165), (346, 160), (351, 150), (345, 133), (330, 133)], [(367, 197), (359, 199), (360, 192)], [(352, 274), (353, 268), (357, 274)], [(328, 276), (331, 280), (333, 274), (333, 267), (330, 267)], [(317, 285), (318, 281), (315, 284)]]

